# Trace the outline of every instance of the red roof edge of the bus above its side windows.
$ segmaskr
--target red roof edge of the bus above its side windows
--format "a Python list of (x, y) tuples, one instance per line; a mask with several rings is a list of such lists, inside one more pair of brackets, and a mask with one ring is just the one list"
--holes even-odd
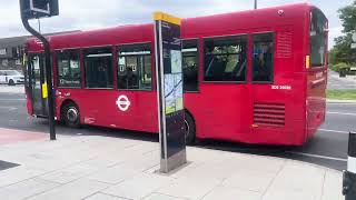
[[(316, 8), (309, 3), (295, 3), (279, 7), (237, 11), (214, 16), (187, 18), (182, 20), (182, 38), (195, 38), (197, 36), (210, 36), (216, 30), (225, 30), (227, 34), (231, 28), (256, 29), (259, 27), (275, 27), (287, 21), (300, 21), (310, 9)], [(279, 22), (280, 18), (283, 22)], [(248, 31), (247, 31), (248, 32)], [(112, 46), (119, 43), (152, 42), (154, 23), (128, 24), (89, 31), (77, 31), (62, 34), (48, 36), (51, 49), (70, 49)], [(29, 51), (40, 51), (41, 43), (30, 38), (27, 41)]]

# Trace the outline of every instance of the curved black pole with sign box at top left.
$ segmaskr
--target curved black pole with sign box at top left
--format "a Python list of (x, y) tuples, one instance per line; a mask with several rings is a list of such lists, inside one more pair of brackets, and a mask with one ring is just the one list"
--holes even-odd
[[(50, 62), (50, 46), (48, 40), (39, 32), (37, 32), (30, 24), (30, 19), (39, 19), (43, 17), (58, 16), (58, 0), (20, 0), (20, 12), (23, 27), (36, 38), (38, 38), (44, 48), (46, 60), (46, 80), (47, 84), (42, 86), (42, 92), (47, 91), (48, 99), (48, 121), (50, 130), (50, 140), (56, 140), (55, 129), (55, 100), (52, 90), (52, 69)], [(43, 71), (40, 73), (43, 74)], [(46, 92), (43, 92), (46, 93)], [(43, 98), (44, 94), (43, 94)]]

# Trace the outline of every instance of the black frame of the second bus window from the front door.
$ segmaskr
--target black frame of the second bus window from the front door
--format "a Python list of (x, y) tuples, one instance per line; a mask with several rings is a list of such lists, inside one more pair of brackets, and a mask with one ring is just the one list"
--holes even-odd
[(116, 86), (115, 86), (115, 77), (112, 77), (112, 88), (88, 88), (87, 87), (87, 73), (86, 73), (86, 57), (85, 57), (85, 51), (88, 50), (88, 49), (99, 49), (99, 48), (110, 48), (111, 49), (111, 70), (113, 70), (113, 62), (115, 62), (115, 59), (113, 59), (113, 54), (112, 54), (112, 49), (115, 48), (113, 44), (103, 44), (103, 46), (90, 46), (90, 47), (83, 47), (80, 49), (80, 64), (82, 64), (82, 89), (86, 89), (86, 90), (115, 90), (116, 89)]

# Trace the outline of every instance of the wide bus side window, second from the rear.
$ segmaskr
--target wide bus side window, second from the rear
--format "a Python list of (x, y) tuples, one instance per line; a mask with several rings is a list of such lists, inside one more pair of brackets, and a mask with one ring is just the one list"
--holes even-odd
[(246, 81), (247, 37), (219, 37), (204, 40), (205, 81)]

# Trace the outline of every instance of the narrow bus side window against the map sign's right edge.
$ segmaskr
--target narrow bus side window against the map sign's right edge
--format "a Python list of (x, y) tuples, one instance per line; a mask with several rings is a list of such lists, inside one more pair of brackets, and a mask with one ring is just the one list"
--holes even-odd
[(181, 56), (184, 91), (198, 91), (198, 40), (184, 40)]

